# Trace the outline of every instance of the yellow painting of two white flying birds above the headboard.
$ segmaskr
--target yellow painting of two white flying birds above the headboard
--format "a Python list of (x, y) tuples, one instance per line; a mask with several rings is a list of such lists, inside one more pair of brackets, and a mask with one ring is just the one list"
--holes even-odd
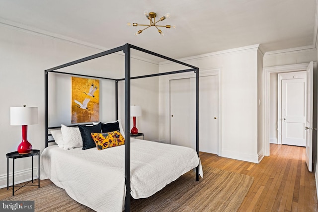
[(71, 123), (99, 121), (99, 80), (72, 76)]

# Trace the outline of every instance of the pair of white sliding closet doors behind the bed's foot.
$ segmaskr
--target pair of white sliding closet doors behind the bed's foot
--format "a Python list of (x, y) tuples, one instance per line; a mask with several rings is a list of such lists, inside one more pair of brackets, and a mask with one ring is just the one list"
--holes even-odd
[[(200, 76), (200, 151), (219, 153), (219, 76)], [(195, 148), (195, 78), (170, 80), (171, 144)]]

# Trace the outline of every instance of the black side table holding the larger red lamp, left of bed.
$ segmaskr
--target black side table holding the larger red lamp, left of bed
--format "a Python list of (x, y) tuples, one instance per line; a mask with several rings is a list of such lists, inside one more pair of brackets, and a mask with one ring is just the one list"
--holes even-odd
[[(7, 158), (7, 181), (6, 181), (6, 190), (9, 190), (9, 158), (13, 159), (13, 165), (12, 165), (12, 196), (14, 196), (14, 192), (16, 192), (17, 190), (19, 190), (20, 188), (24, 187), (24, 186), (38, 186), (38, 188), (40, 188), (40, 150), (38, 149), (32, 149), (32, 151), (28, 154), (19, 154), (17, 151), (13, 151), (13, 152), (9, 152), (6, 155)], [(24, 184), (23, 186), (18, 186), (20, 188), (18, 188), (16, 191), (14, 191), (14, 160), (17, 158), (22, 158), (22, 157), (30, 157), (32, 156), (32, 180), (28, 181), (26, 184)], [(38, 185), (27, 185), (29, 182), (33, 183), (33, 156), (38, 156), (39, 158), (39, 179), (38, 179)]]

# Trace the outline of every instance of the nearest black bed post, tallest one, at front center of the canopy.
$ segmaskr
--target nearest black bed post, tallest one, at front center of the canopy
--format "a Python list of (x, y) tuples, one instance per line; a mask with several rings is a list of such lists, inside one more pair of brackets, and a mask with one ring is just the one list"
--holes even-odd
[(125, 212), (130, 211), (130, 45), (125, 44)]

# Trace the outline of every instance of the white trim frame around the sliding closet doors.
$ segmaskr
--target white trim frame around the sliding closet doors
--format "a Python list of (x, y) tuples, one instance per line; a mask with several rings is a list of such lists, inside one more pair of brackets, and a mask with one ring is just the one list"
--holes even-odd
[[(222, 156), (222, 68), (210, 68), (210, 69), (201, 69), (199, 72), (199, 77), (201, 76), (211, 76), (211, 75), (218, 75), (219, 78), (219, 149), (218, 155)], [(180, 73), (180, 74), (172, 74), (165, 78), (165, 90), (166, 90), (166, 105), (165, 111), (166, 118), (165, 118), (165, 126), (166, 126), (166, 135), (165, 141), (169, 141), (171, 143), (171, 123), (170, 123), (170, 80), (173, 79), (184, 79), (184, 78), (194, 78), (195, 73)], [(202, 128), (200, 128), (202, 129)]]

